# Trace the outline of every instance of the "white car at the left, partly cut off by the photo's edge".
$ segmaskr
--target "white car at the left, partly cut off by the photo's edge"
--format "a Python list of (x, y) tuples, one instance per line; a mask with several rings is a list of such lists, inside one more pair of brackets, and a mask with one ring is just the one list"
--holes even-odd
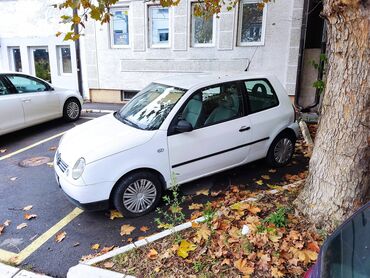
[(22, 73), (0, 73), (0, 135), (60, 117), (75, 121), (82, 102), (77, 91)]

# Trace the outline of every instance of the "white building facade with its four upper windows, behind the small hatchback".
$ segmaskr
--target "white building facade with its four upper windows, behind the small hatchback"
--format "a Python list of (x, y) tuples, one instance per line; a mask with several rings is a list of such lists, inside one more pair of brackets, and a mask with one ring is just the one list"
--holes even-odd
[(170, 8), (120, 1), (109, 24), (90, 21), (85, 30), (91, 99), (122, 102), (163, 76), (244, 70), (275, 74), (293, 96), (304, 1), (276, 1), (263, 10), (258, 2), (241, 0), (202, 18), (196, 1)]

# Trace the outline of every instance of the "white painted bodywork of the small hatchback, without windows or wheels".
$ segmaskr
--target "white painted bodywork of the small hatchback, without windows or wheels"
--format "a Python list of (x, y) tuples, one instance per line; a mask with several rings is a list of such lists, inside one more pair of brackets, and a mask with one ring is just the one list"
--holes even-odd
[[(176, 113), (198, 89), (250, 78), (268, 79), (279, 105), (191, 132), (167, 135)], [(196, 79), (185, 76), (157, 83), (187, 89), (159, 129), (130, 127), (110, 114), (66, 133), (57, 154), (60, 153), (61, 159), (68, 164), (69, 171), (62, 172), (57, 165), (55, 171), (67, 195), (80, 204), (108, 200), (114, 185), (127, 173), (138, 169), (158, 172), (168, 188), (172, 174), (180, 184), (208, 176), (266, 157), (271, 142), (286, 128), (298, 134), (292, 104), (274, 76), (246, 73), (222, 77), (202, 75)], [(239, 132), (242, 127), (250, 129)], [(82, 177), (74, 180), (68, 172), (81, 157), (86, 160), (86, 168)]]

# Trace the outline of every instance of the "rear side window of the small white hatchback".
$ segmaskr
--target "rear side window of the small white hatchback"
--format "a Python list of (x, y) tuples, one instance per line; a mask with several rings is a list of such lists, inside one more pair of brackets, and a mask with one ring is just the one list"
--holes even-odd
[(267, 80), (246, 80), (243, 82), (249, 100), (249, 111), (255, 113), (279, 104), (277, 96)]

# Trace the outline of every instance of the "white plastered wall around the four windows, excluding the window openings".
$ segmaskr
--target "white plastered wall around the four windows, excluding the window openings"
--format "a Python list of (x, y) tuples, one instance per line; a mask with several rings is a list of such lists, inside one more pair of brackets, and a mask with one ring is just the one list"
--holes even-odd
[[(237, 46), (238, 10), (222, 11), (216, 20), (213, 47), (190, 47), (190, 2), (170, 11), (170, 48), (149, 47), (147, 4), (129, 6), (130, 47), (112, 48), (109, 25), (86, 29), (88, 83), (94, 89), (139, 90), (153, 79), (179, 73), (249, 70), (274, 73), (294, 94), (303, 0), (276, 1), (267, 7), (263, 46)], [(253, 57), (253, 58), (252, 58)]]

